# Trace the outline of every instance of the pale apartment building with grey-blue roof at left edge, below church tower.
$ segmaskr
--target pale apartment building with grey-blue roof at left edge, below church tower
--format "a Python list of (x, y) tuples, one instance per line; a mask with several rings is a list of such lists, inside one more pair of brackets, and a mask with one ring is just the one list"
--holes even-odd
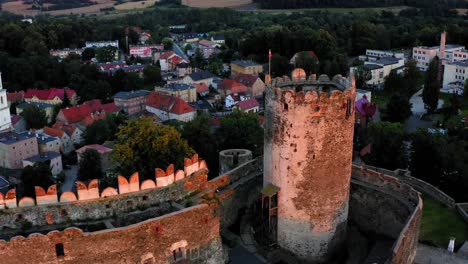
[(0, 167), (23, 168), (23, 160), (39, 154), (36, 136), (33, 133), (0, 133)]

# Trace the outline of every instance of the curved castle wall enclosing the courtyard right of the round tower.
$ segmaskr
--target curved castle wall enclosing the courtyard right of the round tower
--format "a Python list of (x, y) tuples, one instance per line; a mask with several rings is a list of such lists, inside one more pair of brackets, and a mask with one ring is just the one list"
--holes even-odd
[(397, 178), (353, 165), (349, 218), (361, 230), (395, 239), (389, 263), (413, 263), (422, 199)]

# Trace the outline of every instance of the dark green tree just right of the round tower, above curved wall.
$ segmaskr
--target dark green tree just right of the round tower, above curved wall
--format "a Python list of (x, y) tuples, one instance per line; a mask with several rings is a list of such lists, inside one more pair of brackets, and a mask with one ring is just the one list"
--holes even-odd
[(406, 168), (405, 134), (401, 124), (371, 123), (366, 132), (367, 144), (372, 144), (371, 153), (364, 157), (366, 163), (389, 170)]

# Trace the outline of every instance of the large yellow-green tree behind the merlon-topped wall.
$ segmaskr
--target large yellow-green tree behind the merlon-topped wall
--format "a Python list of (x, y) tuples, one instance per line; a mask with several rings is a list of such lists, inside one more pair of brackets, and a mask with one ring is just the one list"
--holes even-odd
[(121, 173), (138, 171), (143, 179), (154, 179), (155, 168), (174, 164), (183, 168), (183, 160), (194, 151), (173, 127), (154, 124), (149, 117), (130, 119), (119, 127), (114, 145), (114, 160)]

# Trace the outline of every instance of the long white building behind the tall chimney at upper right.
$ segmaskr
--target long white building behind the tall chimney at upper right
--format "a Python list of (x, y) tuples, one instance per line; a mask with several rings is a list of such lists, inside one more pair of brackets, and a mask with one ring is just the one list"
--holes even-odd
[[(455, 54), (457, 55), (455, 57)], [(459, 57), (461, 55), (461, 57)], [(468, 51), (465, 50), (464, 46), (460, 45), (446, 45), (445, 46), (445, 62), (454, 62), (456, 60), (462, 60), (463, 55), (467, 56)], [(419, 46), (413, 48), (413, 59), (416, 60), (416, 66), (421, 71), (427, 71), (429, 63), (436, 57), (440, 57), (440, 46), (425, 47)]]

